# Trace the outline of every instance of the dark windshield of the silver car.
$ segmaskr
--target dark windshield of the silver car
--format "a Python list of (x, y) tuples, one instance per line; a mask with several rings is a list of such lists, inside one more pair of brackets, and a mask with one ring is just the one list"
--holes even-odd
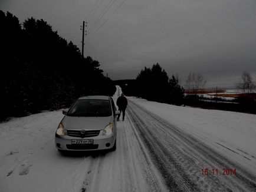
[(108, 117), (111, 115), (108, 100), (77, 100), (67, 113), (73, 117)]

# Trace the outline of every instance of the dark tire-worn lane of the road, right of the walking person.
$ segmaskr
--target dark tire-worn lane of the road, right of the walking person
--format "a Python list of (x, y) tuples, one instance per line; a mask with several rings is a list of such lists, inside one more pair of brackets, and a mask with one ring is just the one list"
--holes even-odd
[[(253, 191), (255, 175), (175, 125), (129, 101), (134, 126), (170, 191)], [(237, 168), (237, 176), (202, 176), (202, 168)]]

